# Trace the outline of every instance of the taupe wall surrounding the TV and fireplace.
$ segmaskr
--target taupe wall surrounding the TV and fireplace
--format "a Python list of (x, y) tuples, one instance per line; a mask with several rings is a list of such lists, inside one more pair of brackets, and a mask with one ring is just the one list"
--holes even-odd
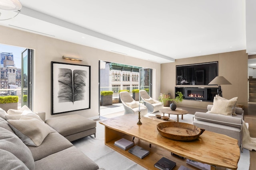
[[(245, 50), (214, 55), (178, 59), (175, 63), (161, 64), (161, 92), (170, 93), (174, 98), (176, 86), (176, 65), (196, 64), (218, 61), (219, 76), (224, 76), (232, 85), (222, 85), (224, 98), (238, 97), (238, 104), (244, 105), (245, 113), (248, 109), (248, 55)], [(212, 86), (216, 87), (216, 86)], [(206, 108), (212, 102), (184, 100), (181, 106)]]

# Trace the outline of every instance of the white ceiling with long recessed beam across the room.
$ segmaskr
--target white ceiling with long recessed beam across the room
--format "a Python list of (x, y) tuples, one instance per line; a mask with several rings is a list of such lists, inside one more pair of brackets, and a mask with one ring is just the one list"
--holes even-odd
[(0, 25), (157, 63), (244, 49), (256, 54), (255, 0), (20, 2), (20, 14)]

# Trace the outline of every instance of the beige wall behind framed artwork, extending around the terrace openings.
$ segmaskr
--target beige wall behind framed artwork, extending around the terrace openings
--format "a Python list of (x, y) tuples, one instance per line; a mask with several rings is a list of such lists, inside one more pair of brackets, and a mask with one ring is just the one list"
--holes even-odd
[[(55, 116), (80, 114), (84, 117), (98, 116), (98, 61), (130, 64), (153, 69), (153, 98), (160, 94), (160, 67), (158, 63), (128, 57), (94, 49), (67, 41), (62, 41), (34, 33), (0, 26), (0, 43), (35, 49), (34, 61), (34, 101), (33, 111), (45, 111), (46, 119)], [(62, 59), (63, 55), (83, 58), (84, 61), (69, 61)], [(51, 111), (51, 61), (77, 63), (91, 66), (91, 109), (50, 115)]]

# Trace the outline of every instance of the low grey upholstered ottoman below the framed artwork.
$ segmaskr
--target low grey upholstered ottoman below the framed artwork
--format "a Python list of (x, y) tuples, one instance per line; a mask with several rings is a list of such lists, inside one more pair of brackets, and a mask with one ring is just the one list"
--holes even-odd
[(68, 139), (68, 141), (74, 141), (93, 134), (96, 137), (96, 121), (81, 115), (53, 117), (47, 119), (45, 123)]

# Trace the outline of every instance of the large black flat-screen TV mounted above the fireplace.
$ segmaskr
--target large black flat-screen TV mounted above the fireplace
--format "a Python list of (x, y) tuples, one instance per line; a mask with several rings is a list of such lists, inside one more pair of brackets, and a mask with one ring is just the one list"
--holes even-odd
[(176, 85), (208, 85), (218, 76), (218, 62), (176, 66)]

